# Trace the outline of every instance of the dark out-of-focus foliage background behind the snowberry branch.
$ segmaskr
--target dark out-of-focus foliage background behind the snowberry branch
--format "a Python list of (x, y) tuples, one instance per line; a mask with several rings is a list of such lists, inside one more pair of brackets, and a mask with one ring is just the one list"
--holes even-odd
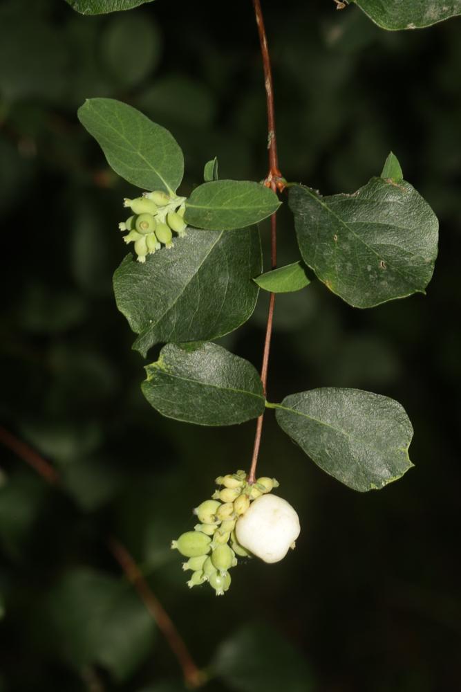
[[(268, 396), (337, 385), (394, 397), (413, 421), (415, 468), (355, 493), (268, 412), (260, 471), (299, 512), (297, 549), (278, 565), (236, 567), (224, 598), (185, 587), (169, 541), (191, 527), (216, 475), (248, 467), (254, 423), (189, 426), (143, 399), (145, 363), (111, 292), (133, 188), (75, 113), (109, 96), (169, 128), (185, 152), (185, 190), (215, 155), (221, 177), (263, 179), (252, 4), (158, 0), (82, 17), (64, 0), (3, 1), (0, 420), (53, 463), (64, 492), (0, 449), (1, 692), (182, 689), (108, 534), (140, 563), (200, 666), (220, 676), (205, 689), (458, 689), (461, 24), (386, 33), (327, 0), (263, 6), (284, 176), (352, 192), (392, 149), (441, 230), (426, 296), (359, 311), (314, 282), (277, 298)], [(297, 259), (285, 208), (279, 245), (280, 264)], [(266, 310), (261, 295), (221, 341), (256, 367)], [(122, 596), (107, 605), (112, 588)]]

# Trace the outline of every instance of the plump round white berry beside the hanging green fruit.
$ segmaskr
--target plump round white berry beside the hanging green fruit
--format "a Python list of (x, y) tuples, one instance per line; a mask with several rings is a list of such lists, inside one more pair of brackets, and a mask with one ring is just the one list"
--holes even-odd
[(282, 560), (299, 536), (299, 517), (276, 495), (261, 495), (235, 527), (238, 543), (266, 563)]

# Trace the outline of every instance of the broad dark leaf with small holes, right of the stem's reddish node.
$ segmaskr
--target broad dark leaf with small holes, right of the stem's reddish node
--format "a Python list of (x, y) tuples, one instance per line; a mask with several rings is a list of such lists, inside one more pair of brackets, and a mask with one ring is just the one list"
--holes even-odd
[(332, 197), (294, 185), (290, 208), (305, 264), (353, 307), (424, 293), (438, 220), (409, 183), (372, 178), (354, 194)]

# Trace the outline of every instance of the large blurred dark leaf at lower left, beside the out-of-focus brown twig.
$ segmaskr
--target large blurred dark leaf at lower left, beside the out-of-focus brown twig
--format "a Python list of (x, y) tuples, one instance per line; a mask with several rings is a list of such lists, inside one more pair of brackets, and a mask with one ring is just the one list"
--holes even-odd
[(68, 572), (48, 597), (50, 629), (75, 666), (100, 664), (123, 682), (147, 656), (154, 623), (122, 579), (87, 568)]

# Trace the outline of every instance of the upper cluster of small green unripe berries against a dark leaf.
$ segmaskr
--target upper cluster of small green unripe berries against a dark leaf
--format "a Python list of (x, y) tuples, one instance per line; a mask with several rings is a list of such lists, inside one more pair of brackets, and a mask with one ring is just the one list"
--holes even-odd
[(173, 246), (173, 231), (179, 237), (186, 235), (185, 197), (169, 195), (162, 190), (144, 192), (142, 197), (124, 199), (123, 206), (130, 208), (133, 215), (118, 224), (120, 230), (127, 230), (124, 242), (134, 243), (138, 262), (145, 262), (147, 255), (153, 255), (162, 245)]

